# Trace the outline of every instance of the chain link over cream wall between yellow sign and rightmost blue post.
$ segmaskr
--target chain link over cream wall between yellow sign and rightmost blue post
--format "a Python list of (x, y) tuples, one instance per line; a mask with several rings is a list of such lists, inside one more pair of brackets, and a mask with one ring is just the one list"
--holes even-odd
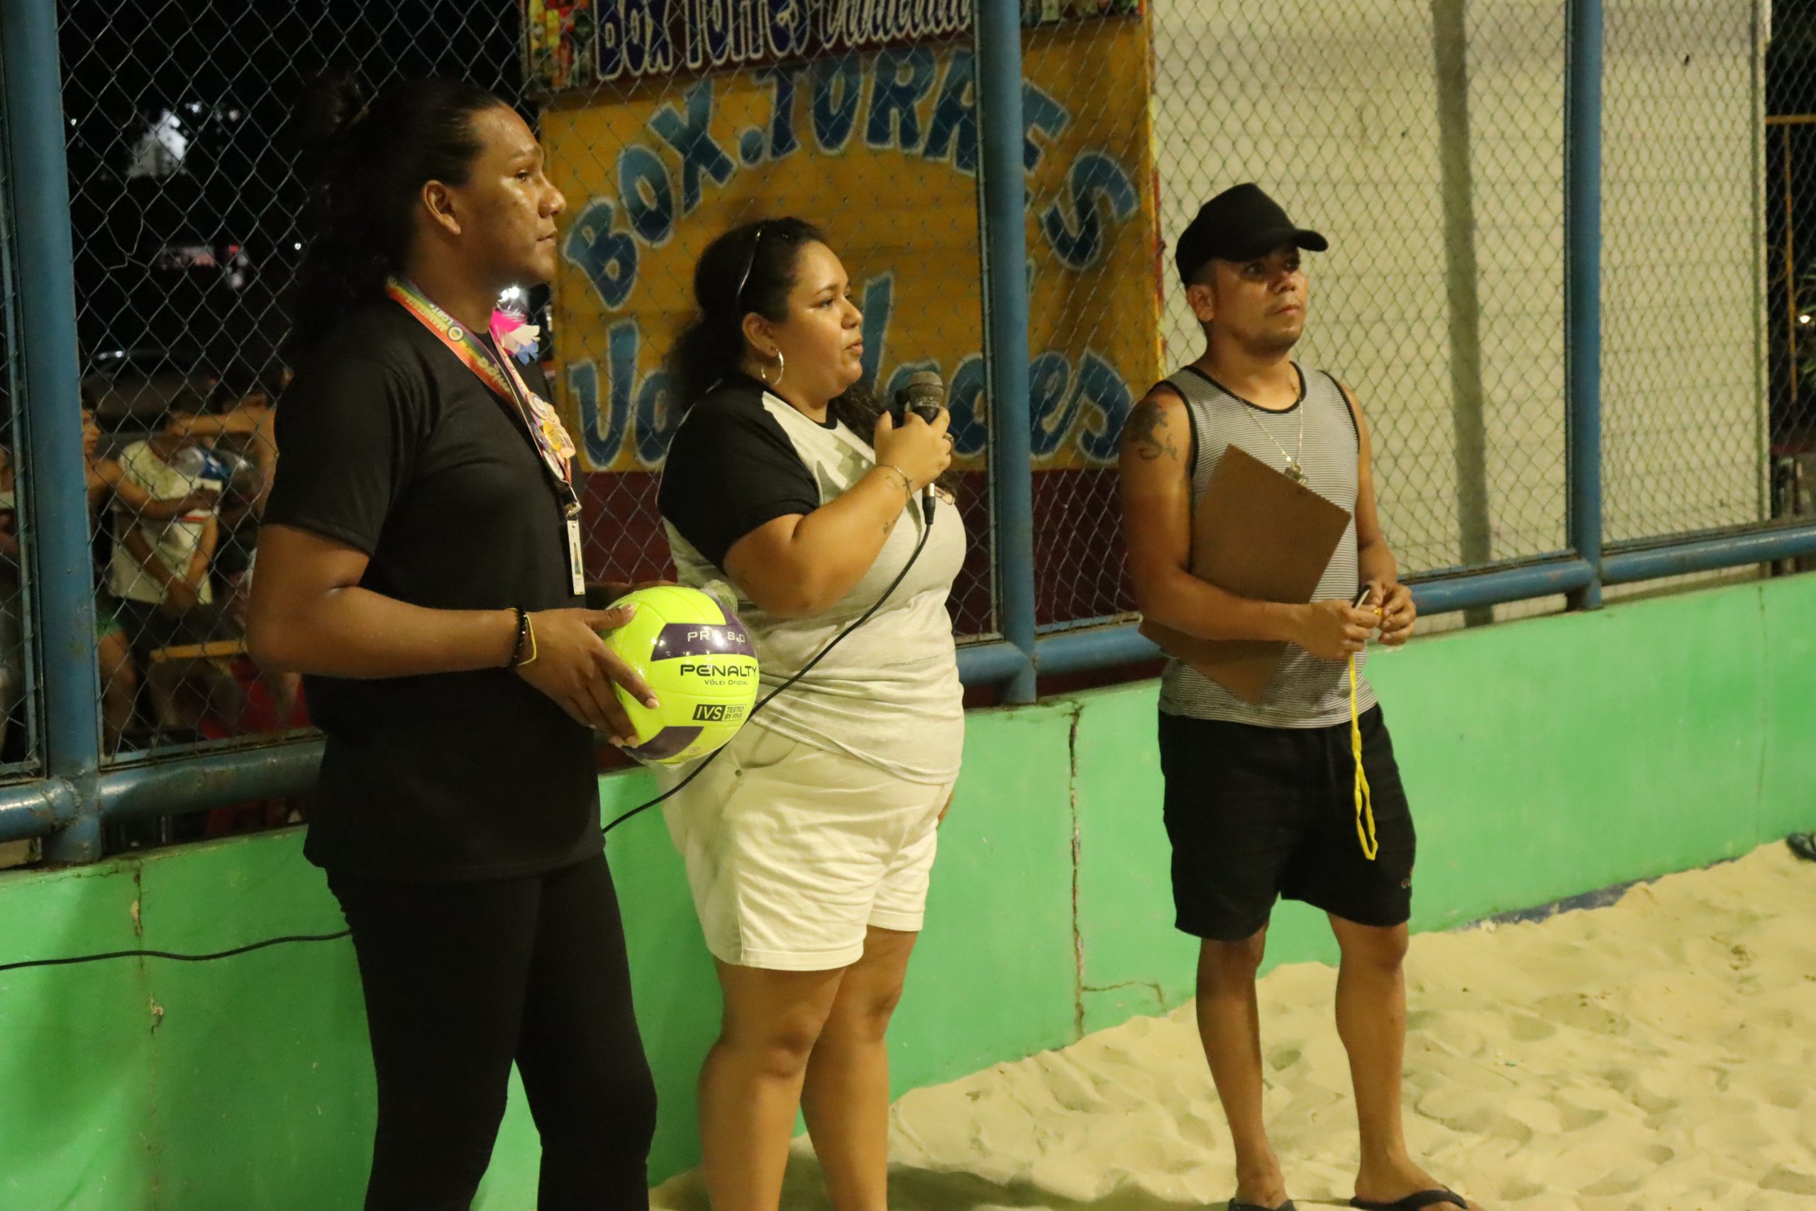
[[(1253, 180), (1308, 254), (1295, 358), (1358, 398), (1402, 574), (1564, 546), (1564, 5), (1155, 0), (1168, 252)], [(1168, 271), (1171, 267), (1168, 265)], [(1166, 365), (1204, 350), (1164, 276)]]

